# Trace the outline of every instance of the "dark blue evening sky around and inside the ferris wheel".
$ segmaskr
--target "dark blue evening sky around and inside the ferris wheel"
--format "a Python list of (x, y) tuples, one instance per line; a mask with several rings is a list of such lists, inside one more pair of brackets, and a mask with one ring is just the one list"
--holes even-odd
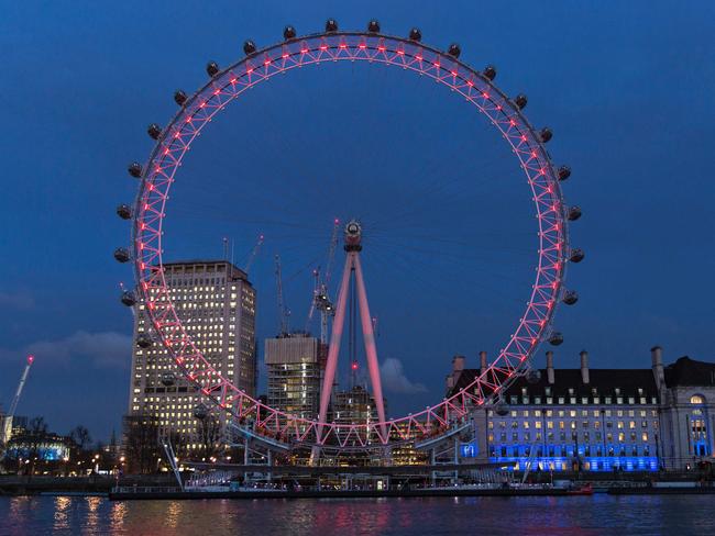
[[(549, 150), (573, 169), (566, 199), (585, 214), (573, 243), (587, 253), (569, 273), (581, 302), (557, 319), (559, 365), (587, 348), (594, 367), (648, 366), (653, 344), (668, 360), (712, 359), (712, 2), (345, 3), (3, 8), (4, 406), (31, 349), (21, 414), (44, 414), (58, 432), (84, 423), (100, 438), (118, 427), (131, 316), (117, 286), (131, 272), (111, 252), (129, 238), (113, 214), (135, 191), (127, 163), (146, 157), (146, 125), (175, 112), (175, 89), (205, 82), (207, 60), (228, 65), (244, 38), (265, 45), (287, 23), (310, 33), (327, 16), (343, 29), (375, 16), (403, 35), (417, 25), (436, 46), (458, 41), (468, 64), (497, 65), (498, 86), (526, 92), (529, 119), (553, 129)], [(320, 66), (256, 88), (196, 145), (167, 220), (176, 257), (220, 255), (229, 235), (242, 264), (266, 233), (252, 279), (267, 336), (273, 254), (302, 327), (307, 267), (332, 216), (363, 217), (382, 357), (429, 391), (387, 392), (394, 413), (441, 398), (452, 354), (475, 364), (480, 349), (496, 351), (532, 277), (524, 180), (484, 121), (433, 86), (381, 67)]]

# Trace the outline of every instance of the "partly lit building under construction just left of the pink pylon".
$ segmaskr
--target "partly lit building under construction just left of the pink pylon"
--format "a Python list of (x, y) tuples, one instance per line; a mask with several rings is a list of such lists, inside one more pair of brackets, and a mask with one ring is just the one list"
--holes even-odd
[(322, 378), (320, 342), (306, 334), (265, 340), (268, 405), (302, 418), (316, 418)]

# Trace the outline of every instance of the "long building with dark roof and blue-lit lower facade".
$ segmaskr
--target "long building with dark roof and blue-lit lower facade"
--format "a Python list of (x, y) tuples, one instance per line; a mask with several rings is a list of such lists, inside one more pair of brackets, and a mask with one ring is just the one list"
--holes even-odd
[[(463, 455), (544, 471), (657, 471), (713, 459), (715, 364), (683, 357), (669, 367), (651, 351), (651, 368), (556, 369), (553, 353), (538, 375), (517, 379), (501, 403), (474, 410), (474, 447)], [(486, 367), (452, 361), (448, 394)], [(531, 381), (529, 381), (529, 378)]]

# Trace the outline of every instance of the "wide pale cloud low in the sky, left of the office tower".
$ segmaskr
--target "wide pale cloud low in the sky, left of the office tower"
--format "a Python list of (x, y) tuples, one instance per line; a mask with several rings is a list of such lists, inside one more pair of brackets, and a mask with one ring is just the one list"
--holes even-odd
[(117, 332), (79, 331), (56, 340), (38, 340), (25, 348), (26, 354), (47, 362), (89, 361), (96, 367), (124, 368), (131, 361), (132, 337)]

